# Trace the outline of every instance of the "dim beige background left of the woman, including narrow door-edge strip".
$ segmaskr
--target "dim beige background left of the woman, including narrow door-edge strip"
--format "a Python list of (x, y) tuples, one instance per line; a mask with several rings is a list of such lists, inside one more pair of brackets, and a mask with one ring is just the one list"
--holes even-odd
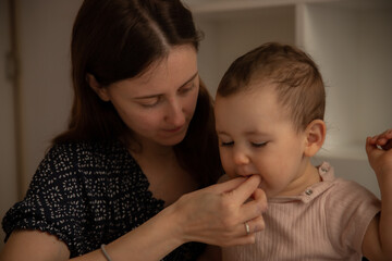
[[(71, 107), (70, 37), (82, 0), (15, 0), (21, 57), (21, 137), (14, 135), (12, 85), (4, 55), (9, 47), (8, 0), (0, 0), (0, 215), (16, 201), (15, 138), (23, 140), (22, 191), (50, 139), (63, 130)], [(3, 232), (1, 229), (3, 246)]]

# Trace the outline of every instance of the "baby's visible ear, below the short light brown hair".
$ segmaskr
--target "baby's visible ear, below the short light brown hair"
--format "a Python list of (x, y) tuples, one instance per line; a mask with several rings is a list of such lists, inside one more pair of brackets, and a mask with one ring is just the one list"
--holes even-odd
[(305, 129), (305, 156), (313, 157), (319, 151), (326, 139), (326, 123), (322, 120), (314, 120), (308, 124)]

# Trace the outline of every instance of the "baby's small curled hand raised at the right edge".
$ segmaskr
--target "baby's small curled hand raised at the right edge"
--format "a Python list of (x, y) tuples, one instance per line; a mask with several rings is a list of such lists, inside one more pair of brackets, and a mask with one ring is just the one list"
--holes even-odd
[(392, 128), (366, 139), (366, 152), (376, 174), (392, 176)]

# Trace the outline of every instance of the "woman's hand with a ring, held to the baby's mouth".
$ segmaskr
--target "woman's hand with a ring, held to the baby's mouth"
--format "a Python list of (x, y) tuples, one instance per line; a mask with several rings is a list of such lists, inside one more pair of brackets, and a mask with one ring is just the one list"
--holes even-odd
[(235, 178), (181, 197), (174, 208), (184, 241), (222, 247), (255, 243), (254, 234), (264, 229), (261, 214), (267, 210), (267, 197), (258, 188), (259, 183), (257, 175)]

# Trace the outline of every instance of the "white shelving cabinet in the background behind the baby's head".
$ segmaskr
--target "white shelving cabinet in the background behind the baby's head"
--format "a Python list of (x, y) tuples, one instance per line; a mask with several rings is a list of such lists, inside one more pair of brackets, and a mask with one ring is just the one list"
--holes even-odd
[(215, 95), (240, 54), (266, 41), (294, 44), (327, 86), (327, 140), (316, 161), (379, 196), (365, 138), (392, 127), (392, 1), (187, 0), (205, 33), (199, 72)]

